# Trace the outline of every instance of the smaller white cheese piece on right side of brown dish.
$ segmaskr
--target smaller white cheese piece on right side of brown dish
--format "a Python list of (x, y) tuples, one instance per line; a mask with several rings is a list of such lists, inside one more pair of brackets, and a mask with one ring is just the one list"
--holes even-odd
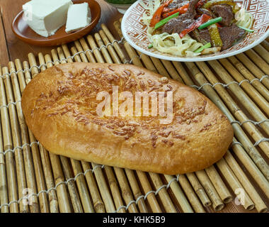
[(67, 13), (67, 33), (79, 31), (91, 23), (91, 10), (88, 3), (74, 4), (69, 6)]

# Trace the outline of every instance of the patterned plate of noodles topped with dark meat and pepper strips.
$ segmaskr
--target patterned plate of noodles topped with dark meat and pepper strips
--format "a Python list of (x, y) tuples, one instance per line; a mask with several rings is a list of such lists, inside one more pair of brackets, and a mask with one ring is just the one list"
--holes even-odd
[(269, 35), (268, 0), (139, 0), (122, 18), (133, 48), (164, 60), (217, 60)]

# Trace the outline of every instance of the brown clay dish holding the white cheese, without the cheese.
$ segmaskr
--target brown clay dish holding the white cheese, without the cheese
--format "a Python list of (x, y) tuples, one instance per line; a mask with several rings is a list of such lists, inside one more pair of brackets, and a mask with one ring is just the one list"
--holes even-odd
[(88, 34), (96, 26), (101, 16), (101, 7), (94, 0), (79, 0), (74, 1), (74, 4), (81, 4), (84, 2), (87, 2), (91, 9), (91, 24), (79, 31), (68, 34), (65, 32), (65, 26), (62, 26), (62, 28), (59, 28), (55, 35), (51, 35), (47, 38), (42, 37), (41, 35), (35, 33), (28, 26), (26, 21), (23, 20), (23, 11), (18, 13), (16, 18), (14, 18), (12, 23), (12, 31), (19, 39), (23, 40), (25, 43), (30, 43), (32, 45), (53, 46), (62, 45), (64, 43), (69, 43), (77, 40)]

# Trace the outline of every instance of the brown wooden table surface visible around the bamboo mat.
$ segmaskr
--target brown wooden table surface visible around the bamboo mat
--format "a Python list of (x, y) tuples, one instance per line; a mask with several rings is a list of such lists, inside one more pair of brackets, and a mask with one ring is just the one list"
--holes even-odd
[[(34, 55), (38, 55), (38, 52), (44, 54), (50, 53), (53, 47), (39, 47), (35, 45), (29, 45), (23, 43), (23, 41), (16, 38), (11, 31), (11, 23), (13, 18), (21, 11), (21, 6), (28, 0), (0, 0), (0, 66), (6, 66), (8, 61), (14, 61), (17, 58), (20, 60), (28, 60), (27, 55), (29, 52), (33, 52)], [(115, 38), (118, 38), (118, 34), (113, 29), (113, 21), (122, 17), (117, 9), (105, 3), (103, 0), (96, 0), (101, 5), (102, 13), (101, 19), (96, 28), (91, 33), (101, 29), (101, 23), (105, 23)], [(212, 210), (209, 210), (212, 211)], [(220, 212), (256, 212), (246, 211), (243, 206), (237, 206), (234, 201), (227, 204), (225, 208)]]

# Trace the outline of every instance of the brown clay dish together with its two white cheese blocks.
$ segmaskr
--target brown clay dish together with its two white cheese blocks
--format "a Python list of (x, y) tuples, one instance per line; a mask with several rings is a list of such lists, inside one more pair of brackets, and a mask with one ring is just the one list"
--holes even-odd
[(13, 33), (32, 45), (62, 45), (88, 34), (98, 23), (101, 7), (94, 0), (32, 0), (12, 23)]

